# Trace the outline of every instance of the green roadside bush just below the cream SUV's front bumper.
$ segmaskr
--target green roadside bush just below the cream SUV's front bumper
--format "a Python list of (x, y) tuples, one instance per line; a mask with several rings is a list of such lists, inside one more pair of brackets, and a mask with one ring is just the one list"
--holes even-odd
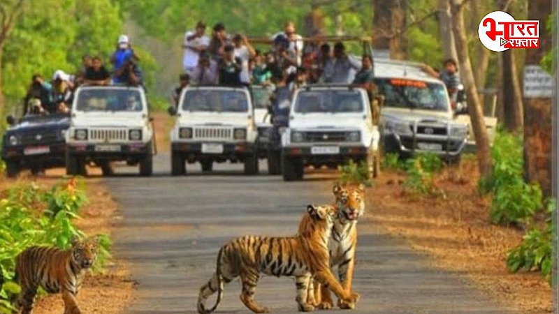
[(441, 158), (435, 154), (418, 154), (405, 162), (404, 187), (414, 193), (437, 195), (435, 174), (442, 169)]

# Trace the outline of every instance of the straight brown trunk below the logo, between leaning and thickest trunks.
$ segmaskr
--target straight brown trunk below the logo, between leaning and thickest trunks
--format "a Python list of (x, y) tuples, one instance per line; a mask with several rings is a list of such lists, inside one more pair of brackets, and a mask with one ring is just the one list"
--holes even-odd
[(521, 132), (524, 125), (524, 110), (522, 91), (514, 62), (514, 50), (505, 50), (501, 55), (504, 126), (511, 132)]

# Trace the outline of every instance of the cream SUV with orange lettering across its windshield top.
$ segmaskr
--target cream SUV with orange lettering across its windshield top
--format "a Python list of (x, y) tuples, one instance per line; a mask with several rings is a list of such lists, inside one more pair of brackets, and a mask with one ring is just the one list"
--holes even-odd
[(433, 153), (445, 160), (459, 160), (468, 129), (453, 121), (443, 82), (428, 76), (416, 63), (375, 60), (375, 83), (384, 96), (384, 153)]

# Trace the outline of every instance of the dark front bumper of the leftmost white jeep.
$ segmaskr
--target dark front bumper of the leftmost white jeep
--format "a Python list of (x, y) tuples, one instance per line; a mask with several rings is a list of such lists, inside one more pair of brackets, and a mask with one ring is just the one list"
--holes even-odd
[(145, 156), (152, 149), (149, 143), (67, 144), (68, 154), (92, 159), (127, 160)]

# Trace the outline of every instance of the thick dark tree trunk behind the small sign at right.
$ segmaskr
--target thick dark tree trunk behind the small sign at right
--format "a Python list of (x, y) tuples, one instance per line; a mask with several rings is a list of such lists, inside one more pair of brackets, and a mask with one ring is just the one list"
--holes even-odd
[[(526, 50), (526, 65), (537, 65), (551, 50), (551, 33), (545, 21), (551, 14), (551, 0), (528, 1), (528, 20), (539, 20), (539, 49)], [(536, 181), (545, 195), (551, 196), (551, 99), (524, 100), (524, 174), (526, 181)]]

